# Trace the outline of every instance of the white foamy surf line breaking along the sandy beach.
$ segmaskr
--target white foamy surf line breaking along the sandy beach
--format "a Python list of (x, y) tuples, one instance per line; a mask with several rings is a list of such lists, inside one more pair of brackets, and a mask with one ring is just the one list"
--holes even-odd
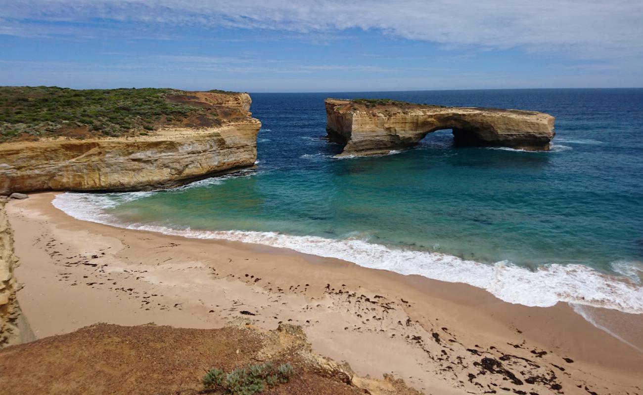
[(627, 279), (620, 281), (617, 277), (601, 274), (584, 265), (554, 263), (532, 271), (507, 261), (488, 265), (440, 252), (395, 249), (356, 238), (332, 240), (275, 232), (197, 231), (149, 224), (124, 224), (115, 216), (105, 213), (104, 208), (114, 207), (113, 200), (105, 200), (105, 195), (64, 193), (55, 197), (53, 205), (79, 220), (187, 238), (258, 243), (343, 259), (363, 267), (399, 274), (417, 274), (451, 283), (466, 283), (483, 288), (505, 302), (525, 306), (547, 307), (561, 301), (626, 313), (643, 313), (643, 286)]

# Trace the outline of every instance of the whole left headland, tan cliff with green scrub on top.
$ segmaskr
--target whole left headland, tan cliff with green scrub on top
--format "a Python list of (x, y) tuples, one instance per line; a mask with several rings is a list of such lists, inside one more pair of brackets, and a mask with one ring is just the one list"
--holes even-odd
[(9, 109), (0, 123), (0, 195), (165, 188), (257, 160), (261, 123), (247, 93), (52, 89), (16, 91), (0, 103)]

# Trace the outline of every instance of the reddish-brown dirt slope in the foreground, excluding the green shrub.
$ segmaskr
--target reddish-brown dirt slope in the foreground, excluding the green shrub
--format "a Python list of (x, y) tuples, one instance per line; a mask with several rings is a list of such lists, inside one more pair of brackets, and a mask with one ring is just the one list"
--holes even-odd
[(290, 362), (288, 383), (262, 394), (415, 395), (401, 380), (359, 378), (345, 364), (312, 353), (302, 329), (262, 332), (96, 324), (0, 351), (1, 394), (198, 394), (206, 370)]

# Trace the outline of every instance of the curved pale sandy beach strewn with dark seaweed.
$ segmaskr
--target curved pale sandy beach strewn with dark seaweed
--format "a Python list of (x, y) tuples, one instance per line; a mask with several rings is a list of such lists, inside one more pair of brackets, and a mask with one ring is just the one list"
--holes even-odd
[(567, 304), (527, 307), (470, 285), (294, 250), (77, 220), (51, 205), (54, 196), (7, 207), (16, 274), (26, 285), (19, 303), (39, 338), (105, 321), (215, 328), (246, 318), (262, 329), (302, 325), (321, 355), (347, 360), (359, 374), (393, 371), (425, 393), (482, 392), (476, 382), (492, 389), (499, 374), (467, 378), (481, 355), (510, 355), (503, 364), (521, 377), (553, 372), (566, 393), (586, 394), (579, 384), (641, 393), (643, 353), (634, 347), (643, 349), (643, 315), (592, 308), (635, 331), (626, 335), (631, 347)]

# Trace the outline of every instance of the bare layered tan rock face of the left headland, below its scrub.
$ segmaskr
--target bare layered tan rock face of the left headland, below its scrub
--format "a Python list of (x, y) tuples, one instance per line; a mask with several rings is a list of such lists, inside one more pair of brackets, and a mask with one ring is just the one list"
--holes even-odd
[(138, 136), (0, 144), (0, 195), (164, 188), (253, 166), (261, 123), (251, 118), (250, 96), (192, 93), (168, 99), (211, 111), (214, 123), (194, 116)]

